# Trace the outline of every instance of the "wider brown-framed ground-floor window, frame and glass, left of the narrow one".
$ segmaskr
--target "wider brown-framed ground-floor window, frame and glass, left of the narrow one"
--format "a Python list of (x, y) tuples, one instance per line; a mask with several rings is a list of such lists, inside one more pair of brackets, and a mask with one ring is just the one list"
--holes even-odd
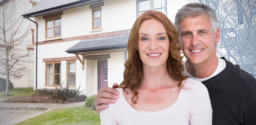
[(45, 86), (61, 85), (61, 62), (47, 62)]

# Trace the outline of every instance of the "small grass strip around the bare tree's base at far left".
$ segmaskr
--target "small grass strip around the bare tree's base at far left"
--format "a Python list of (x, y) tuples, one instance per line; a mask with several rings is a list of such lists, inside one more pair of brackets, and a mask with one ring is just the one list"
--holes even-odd
[(9, 95), (5, 95), (5, 91), (0, 91), (0, 99), (5, 97), (17, 97), (28, 95), (33, 89), (9, 89)]

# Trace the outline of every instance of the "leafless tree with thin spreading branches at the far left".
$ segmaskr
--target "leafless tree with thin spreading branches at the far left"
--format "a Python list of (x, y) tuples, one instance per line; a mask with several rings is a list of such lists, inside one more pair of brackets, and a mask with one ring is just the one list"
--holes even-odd
[(1, 1), (0, 6), (0, 75), (6, 77), (6, 95), (9, 95), (10, 78), (20, 79), (26, 74), (26, 64), (31, 62), (32, 55), (26, 49), (30, 40), (25, 39), (31, 25), (23, 25), (17, 5), (8, 1)]

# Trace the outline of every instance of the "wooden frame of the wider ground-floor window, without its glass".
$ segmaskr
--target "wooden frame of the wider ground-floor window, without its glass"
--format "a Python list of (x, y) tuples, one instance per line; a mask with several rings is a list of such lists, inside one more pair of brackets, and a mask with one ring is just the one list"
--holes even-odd
[[(52, 64), (52, 73), (48, 73), (47, 74), (47, 64)], [(61, 81), (61, 70), (60, 73), (55, 73), (54, 69), (55, 69), (55, 65), (54, 64), (61, 64), (61, 61), (55, 61), (55, 62), (45, 62), (45, 86), (61, 86), (60, 85), (55, 85), (55, 75), (60, 75), (60, 81)], [(61, 69), (61, 67), (60, 67)], [(52, 85), (47, 85), (47, 75), (52, 75)]]

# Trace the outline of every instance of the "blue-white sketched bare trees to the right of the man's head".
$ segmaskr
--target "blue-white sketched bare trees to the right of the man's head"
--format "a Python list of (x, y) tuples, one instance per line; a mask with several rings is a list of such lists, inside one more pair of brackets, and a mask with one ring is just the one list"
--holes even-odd
[(220, 56), (256, 78), (256, 0), (194, 0), (215, 11), (221, 31)]

